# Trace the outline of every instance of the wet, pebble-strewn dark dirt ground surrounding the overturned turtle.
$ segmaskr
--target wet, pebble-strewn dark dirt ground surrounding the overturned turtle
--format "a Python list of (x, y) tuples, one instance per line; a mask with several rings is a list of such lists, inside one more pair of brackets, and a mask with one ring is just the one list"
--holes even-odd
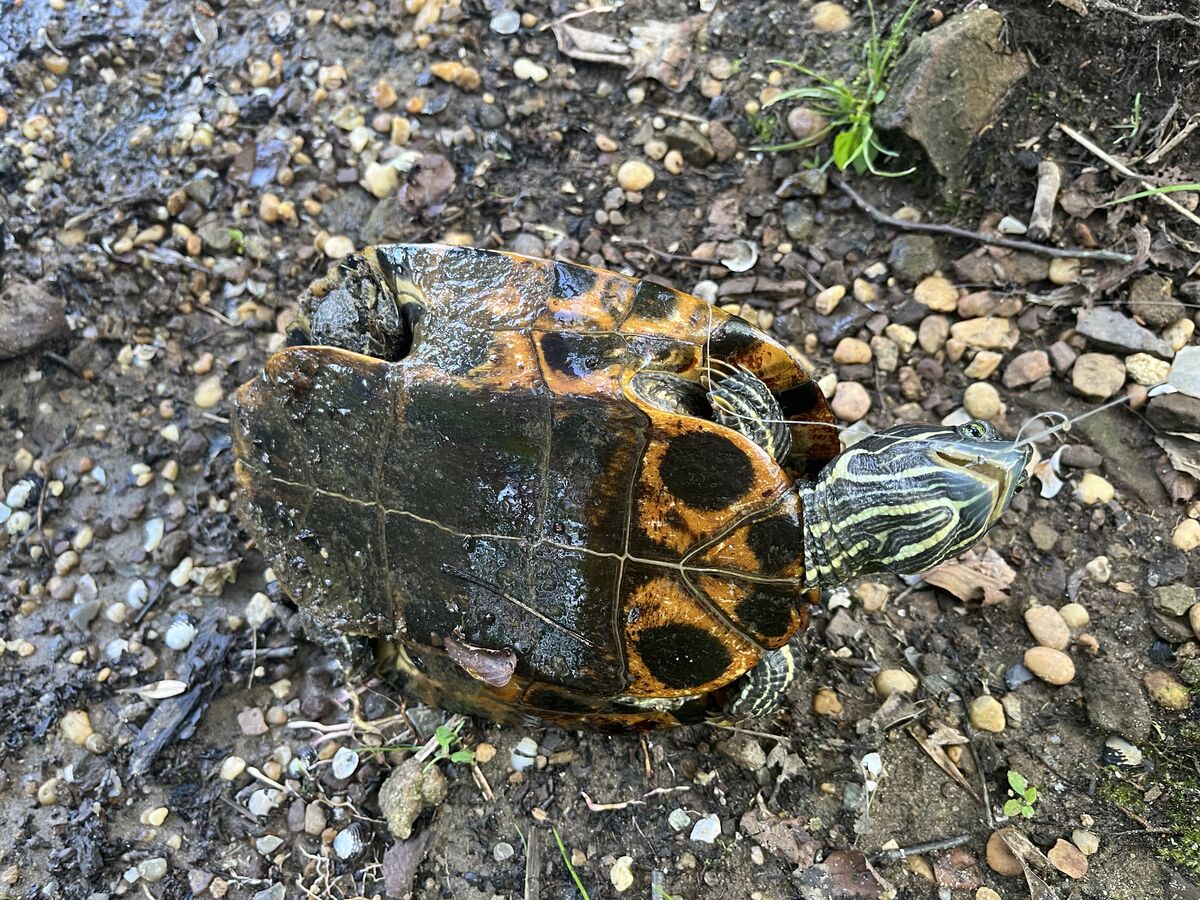
[[(421, 6), (0, 7), (0, 896), (1200, 896), (1200, 607), (1187, 618), (1200, 508), (1188, 461), (1156, 440), (1200, 426), (1186, 403), (1175, 419), (1147, 406), (1138, 377), (1160, 379), (1160, 364), (1075, 330), (1088, 306), (1128, 334), (1130, 292), (1163, 276), (1140, 320), (1178, 343), (1168, 358), (1196, 343), (1180, 324), (1200, 318), (1195, 194), (1172, 194), (1183, 212), (1099, 209), (1138, 184), (1055, 127), (1124, 158), (1166, 145), (1200, 113), (1194, 5), (1006, 5), (1006, 44), (1033, 65), (971, 155), (968, 187), (946, 197), (928, 170), (853, 179), (883, 210), (974, 230), (1028, 222), (1037, 163), (1056, 160), (1068, 191), (1048, 245), (1133, 254), (1140, 228), (1148, 244), (1132, 269), (1085, 262), (1066, 278), (1039, 254), (916, 246), (832, 184), (778, 196), (812, 151), (751, 150), (787, 137), (787, 106), (760, 106), (793, 76), (768, 80), (768, 60), (851, 72), (865, 7), (820, 32), (816, 10), (720, 2), (690, 30), (650, 29), (676, 42), (618, 65), (558, 48), (548, 25), (566, 4)], [(914, 30), (960, 13), (922, 8)], [(628, 42), (697, 14), (658, 1), (568, 24)], [(1200, 180), (1196, 134), (1135, 169)], [(623, 191), (629, 160), (653, 184)], [(739, 239), (757, 263), (731, 272), (715, 258)], [(715, 294), (830, 392), (862, 384), (871, 427), (954, 416), (980, 382), (996, 395), (976, 389), (970, 406), (1002, 403), (988, 412), (1006, 437), (1045, 428), (1031, 418), (1050, 410), (1094, 414), (1037, 443), (1043, 458), (1069, 448), (1066, 485), (1044, 497), (1051, 479), (1033, 480), (988, 538), (994, 556), (980, 548), (986, 571), (827, 596), (775, 718), (646, 742), (468, 721), (451, 749), (475, 763), (434, 763), (445, 794), (425, 785), (432, 803), (401, 841), (378, 802), (408, 755), (388, 748), (414, 742), (401, 698), (352, 685), (373, 726), (338, 731), (350, 690), (247, 546), (228, 436), (233, 390), (282, 344), (304, 286), (343, 250), (389, 240)], [(918, 250), (936, 258), (914, 263)], [(942, 313), (935, 269), (959, 295)], [(834, 286), (846, 296), (820, 314)], [(991, 349), (941, 328), (989, 314), (1007, 336)], [(848, 346), (835, 364), (846, 337), (871, 358)], [(1022, 359), (1038, 350), (1044, 372)], [(1073, 372), (1081, 353), (1105, 358), (1088, 360), (1096, 377)], [(1109, 394), (1136, 408), (1099, 410), (1114, 366)], [(1025, 612), (1070, 602), (1087, 620), (1066, 613), (1074, 676), (1054, 686), (1019, 665), (1036, 643)], [(898, 668), (914, 690), (884, 701), (878, 674)], [(986, 703), (968, 721), (982, 695), (1002, 701), (998, 732), (982, 727)], [(443, 718), (409, 714), (416, 743)], [(533, 762), (516, 772), (522, 740)], [(1031, 817), (1007, 821), (1032, 841), (1028, 881), (985, 862), (1010, 770), (1039, 790)], [(1084, 875), (1062, 841), (1091, 851), (1092, 838)]]

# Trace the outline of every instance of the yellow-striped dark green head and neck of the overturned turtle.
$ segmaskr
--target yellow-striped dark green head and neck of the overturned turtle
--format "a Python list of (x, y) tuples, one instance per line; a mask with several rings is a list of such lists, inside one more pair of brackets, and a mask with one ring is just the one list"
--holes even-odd
[(866, 572), (923, 572), (956, 557), (1024, 487), (1030, 455), (982, 421), (901, 425), (863, 438), (802, 488), (809, 577), (832, 586)]

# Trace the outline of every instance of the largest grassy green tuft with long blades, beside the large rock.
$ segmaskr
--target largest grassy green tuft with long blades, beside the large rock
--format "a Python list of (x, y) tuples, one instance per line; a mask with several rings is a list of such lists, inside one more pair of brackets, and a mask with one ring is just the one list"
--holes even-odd
[(872, 116), (875, 108), (888, 95), (888, 77), (895, 67), (905, 31), (917, 10), (917, 0), (913, 0), (896, 19), (886, 38), (880, 35), (875, 5), (869, 1), (868, 6), (871, 11), (871, 34), (863, 44), (863, 65), (850, 82), (845, 78), (829, 78), (808, 66), (802, 66), (799, 62), (770, 60), (772, 65), (794, 70), (816, 84), (790, 88), (772, 97), (767, 106), (770, 107), (788, 100), (803, 100), (809, 103), (814, 112), (823, 115), (829, 124), (802, 140), (757, 149), (799, 150), (816, 146), (832, 134), (833, 152), (829, 161), (842, 172), (853, 167), (859, 175), (870, 172), (872, 175), (898, 178), (914, 170), (910, 168), (904, 172), (888, 172), (878, 168), (876, 162), (881, 156), (895, 157), (896, 154), (880, 142)]

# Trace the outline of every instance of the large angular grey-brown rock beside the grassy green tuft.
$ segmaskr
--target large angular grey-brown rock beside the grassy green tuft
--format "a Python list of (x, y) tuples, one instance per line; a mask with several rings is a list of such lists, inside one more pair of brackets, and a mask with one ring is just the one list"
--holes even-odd
[(1003, 26), (998, 12), (977, 8), (916, 38), (875, 110), (876, 126), (920, 144), (948, 187), (961, 184), (976, 136), (1028, 72), (1025, 56), (1004, 46)]

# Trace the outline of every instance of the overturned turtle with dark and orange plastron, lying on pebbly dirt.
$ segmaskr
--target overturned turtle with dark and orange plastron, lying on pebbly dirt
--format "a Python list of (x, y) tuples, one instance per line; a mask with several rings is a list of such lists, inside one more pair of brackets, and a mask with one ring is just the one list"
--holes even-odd
[(322, 640), (444, 708), (638, 732), (774, 710), (822, 588), (982, 538), (1030, 450), (842, 449), (745, 319), (569, 262), (380, 245), (234, 401), (238, 508)]

